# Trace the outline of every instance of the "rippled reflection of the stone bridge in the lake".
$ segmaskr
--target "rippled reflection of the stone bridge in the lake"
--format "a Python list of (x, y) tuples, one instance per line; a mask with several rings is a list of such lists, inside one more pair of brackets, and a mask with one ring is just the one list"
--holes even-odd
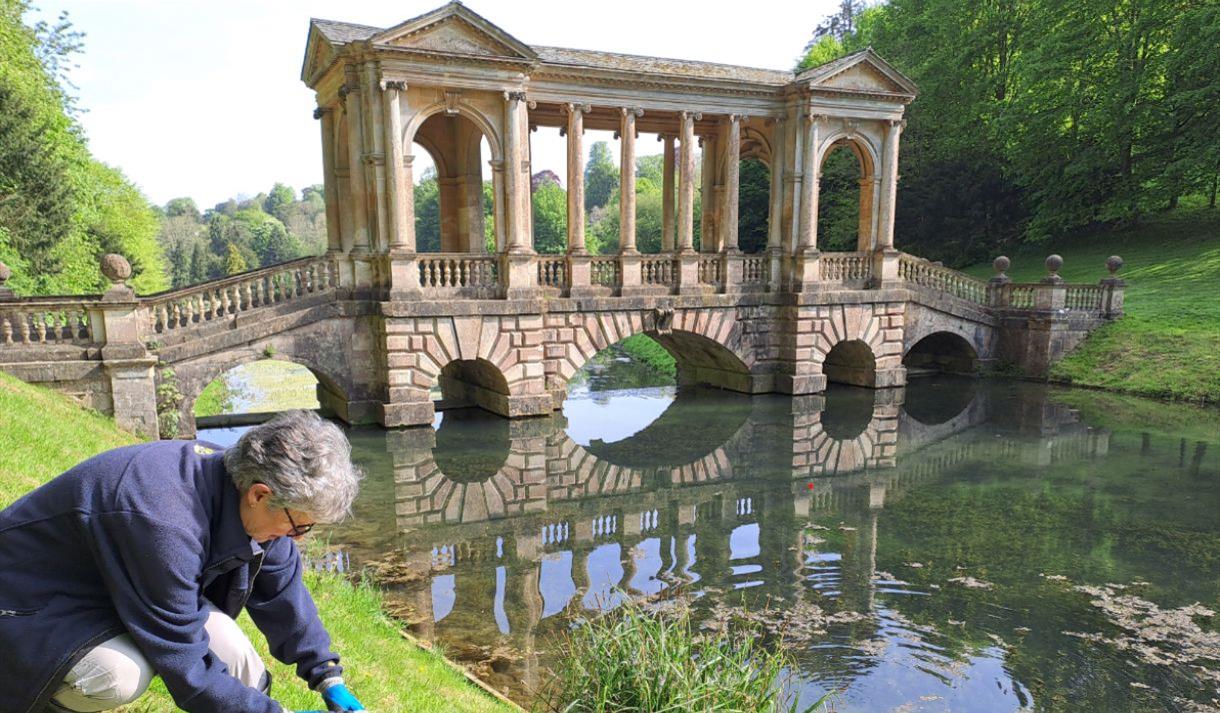
[(332, 541), (357, 568), (394, 565), (382, 581), (414, 630), (518, 698), (543, 685), (562, 614), (675, 590), (697, 610), (742, 590), (754, 606), (869, 614), (809, 652), (830, 685), (876, 664), (844, 642), (892, 628), (874, 599), (906, 591), (877, 571), (887, 504), (975, 461), (1107, 453), (1108, 432), (1066, 408), (996, 398), (972, 380), (797, 398), (682, 389), (612, 443), (577, 443), (558, 414), (357, 430), (371, 477)]

